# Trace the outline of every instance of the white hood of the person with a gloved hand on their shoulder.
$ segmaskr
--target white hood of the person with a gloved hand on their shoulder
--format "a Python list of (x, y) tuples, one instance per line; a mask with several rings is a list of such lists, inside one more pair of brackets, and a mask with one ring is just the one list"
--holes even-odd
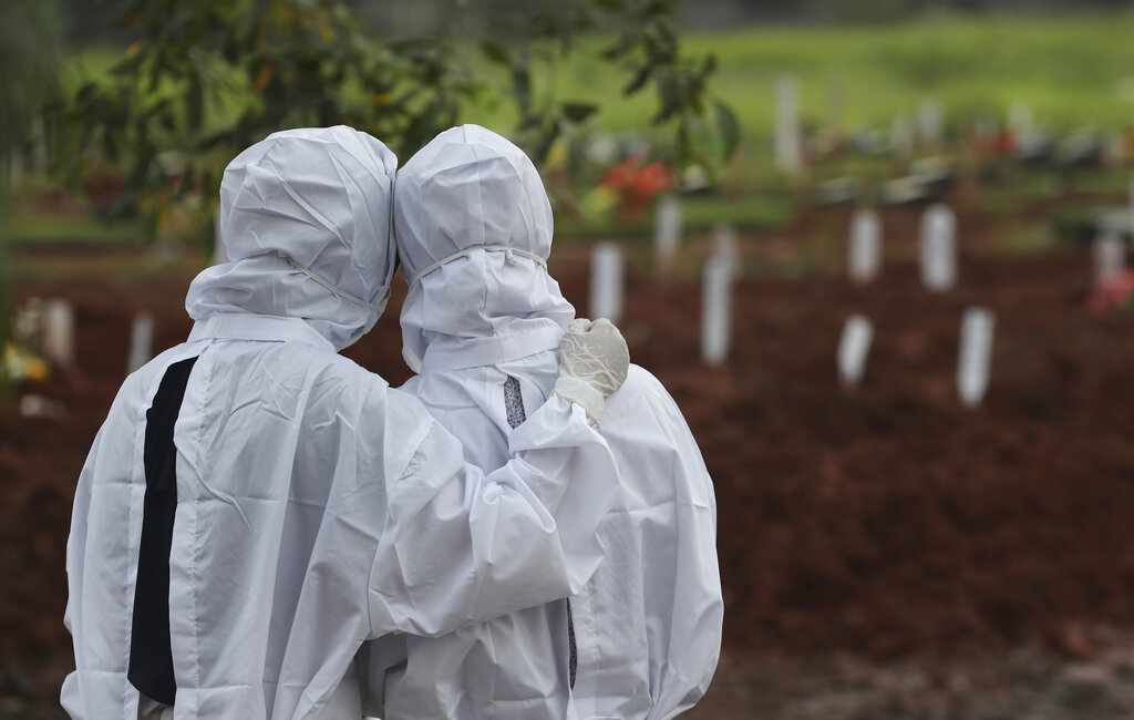
[(558, 347), (575, 308), (547, 272), (551, 204), (522, 150), (477, 125), (441, 133), (398, 171), (393, 228), (414, 372)]

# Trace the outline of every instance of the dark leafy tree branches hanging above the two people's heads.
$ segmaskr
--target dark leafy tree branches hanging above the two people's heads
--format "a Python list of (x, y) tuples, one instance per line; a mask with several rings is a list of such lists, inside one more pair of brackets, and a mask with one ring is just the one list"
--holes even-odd
[[(430, 27), (401, 23), (401, 33), (337, 0), (110, 6), (118, 23), (90, 33), (115, 43), (112, 59), (84, 67), (49, 113), (56, 169), (87, 192), (125, 169), (109, 214), (139, 214), (151, 236), (171, 213), (211, 217), (228, 160), (281, 128), (346, 124), (406, 159), (493, 94), (511, 107), (515, 139), (542, 162), (599, 109), (600, 99), (562, 95), (547, 78), (600, 28), (610, 41), (599, 52), (624, 76), (621, 93), (652, 88), (651, 122), (674, 134), (677, 161), (711, 168), (737, 142), (735, 118), (708, 91), (712, 57), (680, 51), (672, 0), (501, 3), (488, 15), (438, 2)], [(485, 31), (471, 35), (471, 17)], [(493, 74), (507, 78), (503, 92)], [(197, 226), (211, 237), (209, 223)]]

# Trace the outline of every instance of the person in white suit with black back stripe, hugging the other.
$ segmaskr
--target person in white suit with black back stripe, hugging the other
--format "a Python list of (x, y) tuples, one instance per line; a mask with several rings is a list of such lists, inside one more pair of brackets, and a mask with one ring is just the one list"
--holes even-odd
[[(188, 340), (122, 384), (67, 544), (73, 718), (358, 718), (356, 651), (578, 592), (617, 493), (598, 417), (612, 325), (488, 476), (408, 393), (339, 356), (389, 293), (396, 159), (346, 127), (271, 135), (221, 184), (230, 261)], [(534, 409), (534, 406), (533, 406)]]

